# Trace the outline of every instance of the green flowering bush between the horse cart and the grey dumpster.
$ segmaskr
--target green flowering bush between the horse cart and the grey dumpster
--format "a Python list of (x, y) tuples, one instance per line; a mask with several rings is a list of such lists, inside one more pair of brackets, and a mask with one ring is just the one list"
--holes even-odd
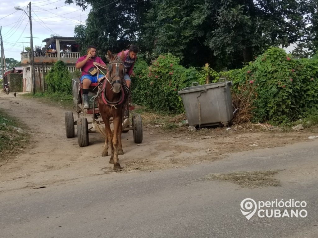
[(195, 68), (179, 65), (180, 59), (172, 54), (160, 55), (151, 66), (138, 59), (133, 80), (133, 101), (161, 112), (183, 112), (178, 90), (197, 81)]

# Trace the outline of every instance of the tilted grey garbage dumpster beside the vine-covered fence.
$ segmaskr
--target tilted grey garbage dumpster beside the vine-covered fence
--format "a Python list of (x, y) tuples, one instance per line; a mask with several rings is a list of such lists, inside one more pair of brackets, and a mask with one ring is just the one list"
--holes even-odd
[(190, 126), (229, 125), (233, 118), (232, 81), (197, 85), (178, 92)]

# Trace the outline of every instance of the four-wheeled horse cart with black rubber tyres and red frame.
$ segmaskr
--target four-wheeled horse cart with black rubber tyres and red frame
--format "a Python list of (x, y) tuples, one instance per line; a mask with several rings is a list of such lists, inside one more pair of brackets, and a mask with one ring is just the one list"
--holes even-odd
[[(65, 129), (66, 137), (73, 138), (75, 136), (75, 128), (77, 125), (77, 139), (79, 146), (88, 146), (88, 134), (89, 133), (101, 133), (106, 137), (102, 118), (100, 116), (99, 109), (95, 100), (95, 96), (98, 92), (98, 83), (92, 83), (89, 88), (88, 98), (89, 98), (89, 108), (83, 109), (82, 105), (82, 84), (79, 78), (72, 79), (72, 89), (73, 89), (73, 105), (77, 112), (77, 120), (74, 121), (73, 112), (65, 112)], [(142, 119), (141, 115), (138, 113), (132, 113), (130, 118), (130, 111), (133, 111), (135, 107), (128, 104), (128, 100), (124, 107), (123, 113), (123, 123), (122, 132), (126, 133), (133, 131), (134, 142), (139, 144), (142, 142)], [(91, 115), (92, 120), (88, 121), (86, 116)]]

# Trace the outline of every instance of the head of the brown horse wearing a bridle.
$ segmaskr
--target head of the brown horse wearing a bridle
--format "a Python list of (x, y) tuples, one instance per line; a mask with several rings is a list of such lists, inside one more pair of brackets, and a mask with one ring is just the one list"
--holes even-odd
[(118, 93), (121, 92), (121, 87), (123, 85), (123, 78), (125, 75), (125, 65), (124, 51), (121, 52), (121, 56), (117, 56), (116, 54), (112, 54), (112, 52), (107, 52), (109, 58), (109, 66), (108, 66), (108, 76), (109, 81), (111, 83), (111, 89), (113, 92)]

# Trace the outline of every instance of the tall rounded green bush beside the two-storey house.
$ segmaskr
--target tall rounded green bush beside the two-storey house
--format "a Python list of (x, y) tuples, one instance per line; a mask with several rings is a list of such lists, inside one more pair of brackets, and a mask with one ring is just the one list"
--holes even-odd
[(72, 79), (63, 61), (57, 61), (45, 76), (48, 92), (72, 94)]

